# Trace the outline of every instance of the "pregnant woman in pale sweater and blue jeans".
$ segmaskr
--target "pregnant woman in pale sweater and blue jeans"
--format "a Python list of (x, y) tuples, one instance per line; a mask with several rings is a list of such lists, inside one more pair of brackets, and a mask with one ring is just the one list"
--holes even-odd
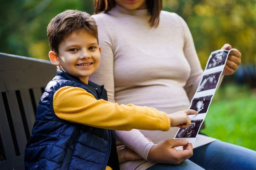
[[(102, 52), (100, 67), (91, 79), (105, 85), (110, 102), (155, 107), (166, 113), (189, 108), (203, 70), (186, 22), (161, 9), (162, 0), (95, 1), (93, 17)], [(234, 49), (223, 75), (233, 74), (240, 63), (241, 54)], [(172, 139), (176, 132), (177, 128), (117, 131), (117, 138), (143, 158), (123, 162), (120, 168), (255, 169), (255, 151), (203, 135), (197, 136), (194, 155), (187, 159), (174, 147), (184, 145), (182, 140)]]

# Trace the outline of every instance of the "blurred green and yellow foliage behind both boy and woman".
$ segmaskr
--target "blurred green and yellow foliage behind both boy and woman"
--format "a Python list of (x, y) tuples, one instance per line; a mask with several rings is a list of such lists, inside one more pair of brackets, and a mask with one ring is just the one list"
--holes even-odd
[[(0, 51), (48, 59), (46, 27), (65, 9), (93, 14), (94, 0), (0, 0)], [(256, 0), (163, 0), (183, 17), (204, 68), (211, 51), (230, 43), (243, 64), (256, 63)]]

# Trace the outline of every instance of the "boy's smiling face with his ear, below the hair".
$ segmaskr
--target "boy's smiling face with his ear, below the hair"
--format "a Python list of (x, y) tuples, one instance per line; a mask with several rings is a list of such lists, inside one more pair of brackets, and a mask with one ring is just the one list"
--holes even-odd
[(55, 66), (88, 83), (100, 63), (100, 47), (97, 38), (86, 31), (73, 32), (59, 44), (59, 54), (50, 51), (49, 57)]

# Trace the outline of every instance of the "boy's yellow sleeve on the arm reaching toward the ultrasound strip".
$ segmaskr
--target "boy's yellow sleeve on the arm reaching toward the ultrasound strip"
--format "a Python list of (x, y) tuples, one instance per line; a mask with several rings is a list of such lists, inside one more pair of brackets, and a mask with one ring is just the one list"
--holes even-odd
[(79, 87), (61, 87), (53, 98), (55, 114), (64, 120), (112, 130), (170, 129), (170, 118), (155, 108), (97, 100)]

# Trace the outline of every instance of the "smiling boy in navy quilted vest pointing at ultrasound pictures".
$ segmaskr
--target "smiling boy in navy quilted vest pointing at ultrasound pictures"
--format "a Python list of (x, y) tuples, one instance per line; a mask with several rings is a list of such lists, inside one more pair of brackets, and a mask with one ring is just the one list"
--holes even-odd
[(90, 82), (100, 62), (97, 25), (85, 12), (54, 17), (47, 35), (57, 75), (40, 99), (26, 150), (26, 169), (118, 169), (114, 131), (187, 127), (186, 110), (168, 116), (154, 108), (107, 102), (106, 90)]

